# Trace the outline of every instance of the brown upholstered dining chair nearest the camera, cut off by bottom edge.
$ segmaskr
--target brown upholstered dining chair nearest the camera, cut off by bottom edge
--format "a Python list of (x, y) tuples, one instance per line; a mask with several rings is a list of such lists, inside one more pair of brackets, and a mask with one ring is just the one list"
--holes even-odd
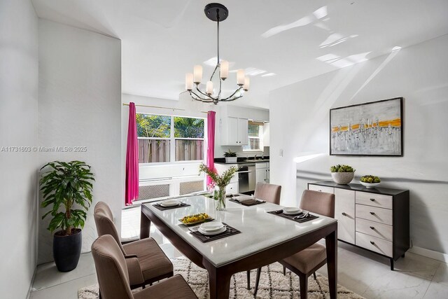
[(197, 299), (179, 274), (132, 293), (125, 256), (111, 235), (103, 235), (93, 242), (92, 256), (102, 299)]

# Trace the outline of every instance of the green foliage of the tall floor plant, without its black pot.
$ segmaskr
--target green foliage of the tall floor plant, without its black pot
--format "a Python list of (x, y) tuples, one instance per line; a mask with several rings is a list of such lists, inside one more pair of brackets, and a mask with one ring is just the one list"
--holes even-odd
[[(72, 229), (84, 227), (87, 218), (85, 211), (92, 204), (94, 174), (90, 166), (81, 161), (54, 161), (44, 165), (41, 170), (45, 167), (49, 167), (50, 171), (41, 178), (41, 207), (52, 205), (52, 209), (42, 218), (51, 214), (52, 219), (48, 224), (50, 232), (61, 228), (61, 235), (71, 235)], [(73, 204), (78, 204), (80, 209), (73, 209)], [(61, 207), (64, 211), (59, 211)]]

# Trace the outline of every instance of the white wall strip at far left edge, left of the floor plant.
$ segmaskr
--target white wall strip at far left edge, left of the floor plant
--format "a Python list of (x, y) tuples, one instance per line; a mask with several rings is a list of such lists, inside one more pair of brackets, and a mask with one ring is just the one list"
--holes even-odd
[[(36, 265), (38, 19), (28, 0), (0, 1), (0, 293), (25, 298)], [(4, 148), (3, 148), (4, 149)], [(8, 295), (9, 294), (9, 295)], [(12, 295), (14, 294), (14, 295)]]

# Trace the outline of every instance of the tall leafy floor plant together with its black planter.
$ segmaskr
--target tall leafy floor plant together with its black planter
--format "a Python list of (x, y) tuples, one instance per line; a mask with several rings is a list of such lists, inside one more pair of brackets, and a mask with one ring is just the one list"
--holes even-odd
[[(54, 161), (41, 178), (43, 202), (41, 207), (51, 207), (42, 218), (52, 216), (48, 230), (53, 235), (53, 258), (57, 270), (69, 272), (76, 268), (81, 252), (81, 228), (92, 204), (92, 181), (94, 174), (90, 166), (81, 161)], [(74, 205), (79, 208), (76, 209)], [(58, 230), (60, 229), (60, 230)]]

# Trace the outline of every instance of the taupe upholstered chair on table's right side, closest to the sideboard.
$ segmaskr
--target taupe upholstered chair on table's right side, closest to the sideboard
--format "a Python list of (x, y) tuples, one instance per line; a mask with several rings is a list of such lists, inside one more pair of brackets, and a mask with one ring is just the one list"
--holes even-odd
[[(335, 195), (313, 190), (304, 190), (300, 209), (314, 212), (323, 216), (335, 218)], [(283, 274), (286, 268), (294, 272), (300, 281), (300, 298), (306, 299), (308, 293), (308, 277), (313, 274), (316, 279), (316, 270), (327, 263), (327, 253), (325, 246), (314, 243), (307, 249), (299, 251), (288, 258), (280, 260), (283, 265)], [(259, 279), (257, 277), (257, 279)], [(258, 291), (258, 281), (255, 285), (255, 294)]]

